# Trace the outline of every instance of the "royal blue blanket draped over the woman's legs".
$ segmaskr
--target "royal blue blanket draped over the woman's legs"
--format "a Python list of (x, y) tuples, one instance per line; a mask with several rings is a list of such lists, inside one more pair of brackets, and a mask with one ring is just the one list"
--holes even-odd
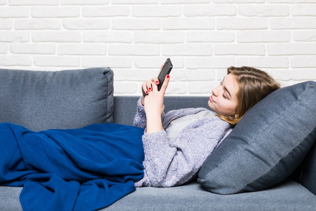
[(23, 186), (23, 210), (96, 210), (143, 177), (143, 129), (92, 124), (30, 131), (0, 123), (0, 185)]

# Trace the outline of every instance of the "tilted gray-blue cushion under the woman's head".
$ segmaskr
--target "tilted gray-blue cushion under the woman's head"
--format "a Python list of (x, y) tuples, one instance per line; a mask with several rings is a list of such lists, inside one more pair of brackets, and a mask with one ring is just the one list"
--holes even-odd
[(316, 82), (284, 87), (253, 106), (203, 163), (199, 183), (233, 194), (266, 189), (297, 168), (315, 141)]

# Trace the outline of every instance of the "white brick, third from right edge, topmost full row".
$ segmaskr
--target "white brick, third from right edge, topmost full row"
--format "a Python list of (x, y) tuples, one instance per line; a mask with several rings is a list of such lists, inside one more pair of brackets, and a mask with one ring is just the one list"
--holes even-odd
[(234, 5), (184, 6), (185, 16), (234, 16), (237, 14)]

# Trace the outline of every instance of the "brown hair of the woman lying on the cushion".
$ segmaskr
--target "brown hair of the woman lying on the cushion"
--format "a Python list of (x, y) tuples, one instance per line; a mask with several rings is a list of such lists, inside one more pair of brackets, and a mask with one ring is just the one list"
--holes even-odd
[(218, 114), (218, 116), (232, 125), (245, 115), (257, 102), (270, 93), (280, 89), (280, 84), (268, 73), (253, 67), (229, 67), (227, 74), (233, 74), (239, 86), (237, 92), (236, 117)]

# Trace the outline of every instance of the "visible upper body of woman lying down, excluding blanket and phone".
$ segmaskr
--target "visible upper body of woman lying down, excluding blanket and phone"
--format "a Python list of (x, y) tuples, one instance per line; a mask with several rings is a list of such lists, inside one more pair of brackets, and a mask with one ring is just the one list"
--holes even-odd
[(144, 128), (144, 177), (136, 187), (171, 187), (194, 178), (210, 153), (232, 131), (243, 115), (262, 98), (280, 88), (266, 72), (251, 67), (230, 67), (212, 90), (208, 106), (164, 113), (166, 76), (157, 91), (157, 78), (142, 84), (134, 125)]

